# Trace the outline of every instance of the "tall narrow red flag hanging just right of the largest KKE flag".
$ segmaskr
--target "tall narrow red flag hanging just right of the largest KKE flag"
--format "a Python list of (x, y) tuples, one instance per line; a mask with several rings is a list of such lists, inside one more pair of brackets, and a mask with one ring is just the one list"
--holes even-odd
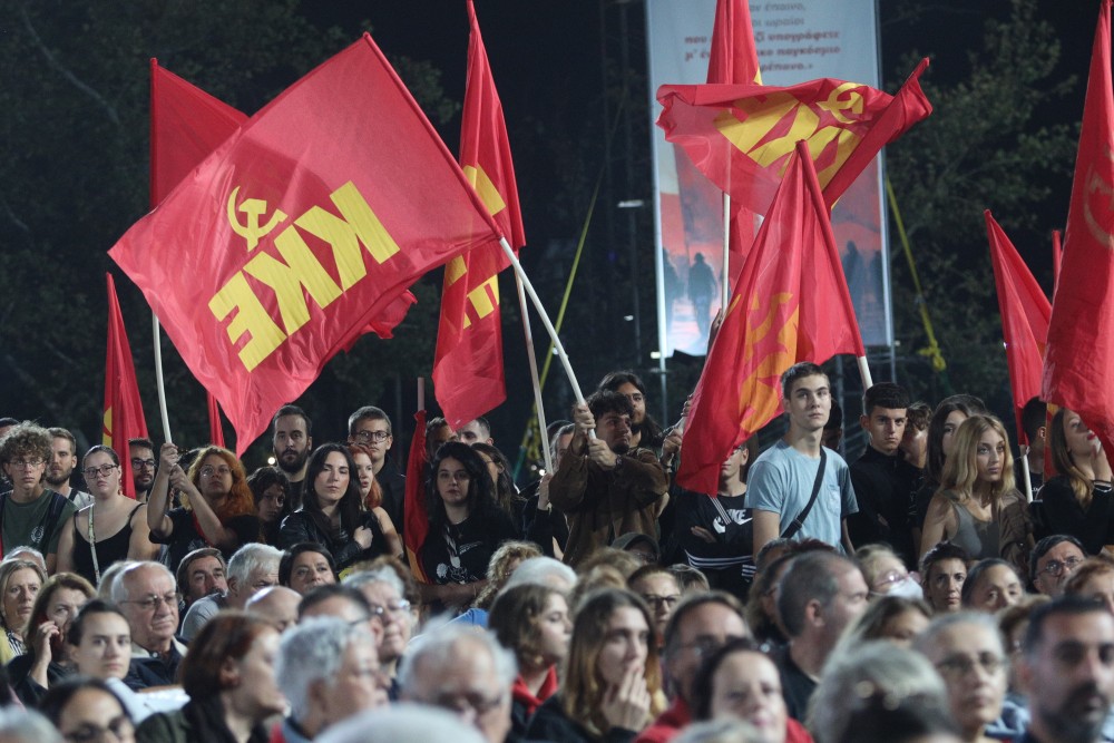
[[(468, 0), (471, 37), (460, 125), (460, 165), (516, 251), (526, 244), (518, 185), (502, 104), (495, 88), (476, 8)], [(507, 399), (502, 370), (499, 272), (509, 261), (498, 246), (453, 258), (444, 270), (433, 389), (453, 429)]]

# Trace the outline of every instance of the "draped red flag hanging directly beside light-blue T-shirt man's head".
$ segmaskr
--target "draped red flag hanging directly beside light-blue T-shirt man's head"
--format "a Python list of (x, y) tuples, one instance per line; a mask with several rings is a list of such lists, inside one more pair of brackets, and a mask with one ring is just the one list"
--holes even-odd
[(714, 496), (731, 450), (781, 411), (781, 374), (837, 353), (866, 355), (820, 182), (800, 143), (696, 385), (677, 482)]

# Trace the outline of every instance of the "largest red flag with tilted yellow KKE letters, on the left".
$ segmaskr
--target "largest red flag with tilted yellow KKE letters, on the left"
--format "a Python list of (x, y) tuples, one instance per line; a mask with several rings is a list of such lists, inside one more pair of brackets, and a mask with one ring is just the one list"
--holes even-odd
[(252, 117), (110, 254), (243, 452), (424, 272), (499, 237), (364, 36)]

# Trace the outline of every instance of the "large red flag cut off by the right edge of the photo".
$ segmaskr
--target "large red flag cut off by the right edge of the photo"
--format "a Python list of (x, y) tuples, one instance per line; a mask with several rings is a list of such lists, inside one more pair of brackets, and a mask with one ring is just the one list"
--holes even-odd
[(1044, 399), (1075, 411), (1114, 459), (1114, 88), (1111, 1), (1091, 52), (1064, 258), (1048, 323)]

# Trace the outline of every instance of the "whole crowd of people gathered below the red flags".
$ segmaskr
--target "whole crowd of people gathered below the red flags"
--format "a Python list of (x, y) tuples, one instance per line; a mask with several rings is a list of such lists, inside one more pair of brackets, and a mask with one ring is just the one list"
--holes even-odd
[(631, 372), (522, 488), (487, 420), (434, 418), (412, 549), (379, 408), (315, 444), (283, 407), (251, 475), (146, 439), (79, 461), (66, 429), (0, 419), (0, 740), (1114, 740), (1086, 422), (1029, 401), (1015, 459), (977, 398), (880, 382), (849, 465), (823, 370), (781, 384), (784, 436), (714, 493), (676, 481), (685, 421)]

